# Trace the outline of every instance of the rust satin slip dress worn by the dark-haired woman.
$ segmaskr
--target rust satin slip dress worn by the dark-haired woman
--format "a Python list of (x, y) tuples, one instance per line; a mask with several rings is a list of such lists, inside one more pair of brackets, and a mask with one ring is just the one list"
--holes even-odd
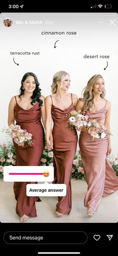
[[(16, 100), (16, 98), (15, 98)], [(14, 107), (14, 118), (21, 129), (32, 134), (34, 144), (30, 147), (27, 143), (24, 147), (13, 143), (16, 151), (16, 166), (39, 166), (40, 157), (44, 149), (44, 130), (41, 124), (41, 107), (37, 102), (30, 109), (21, 108), (18, 103)], [(16, 213), (18, 216), (27, 214), (36, 217), (35, 201), (41, 201), (39, 197), (26, 196), (26, 184), (37, 182), (14, 182), (14, 195), (17, 200)]]

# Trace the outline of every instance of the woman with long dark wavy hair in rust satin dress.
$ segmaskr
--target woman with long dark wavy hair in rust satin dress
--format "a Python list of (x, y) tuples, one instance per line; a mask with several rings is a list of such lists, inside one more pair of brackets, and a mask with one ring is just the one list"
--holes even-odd
[[(27, 143), (19, 147), (13, 142), (16, 151), (16, 166), (39, 166), (40, 157), (44, 149), (45, 126), (44, 96), (40, 94), (39, 83), (35, 74), (28, 72), (21, 80), (19, 95), (13, 96), (8, 107), (8, 125), (14, 123), (21, 129), (32, 134), (34, 144)], [(37, 182), (14, 182), (14, 195), (17, 200), (16, 213), (20, 221), (24, 222), (29, 216), (36, 217), (35, 201), (39, 197), (26, 196), (26, 184)]]

